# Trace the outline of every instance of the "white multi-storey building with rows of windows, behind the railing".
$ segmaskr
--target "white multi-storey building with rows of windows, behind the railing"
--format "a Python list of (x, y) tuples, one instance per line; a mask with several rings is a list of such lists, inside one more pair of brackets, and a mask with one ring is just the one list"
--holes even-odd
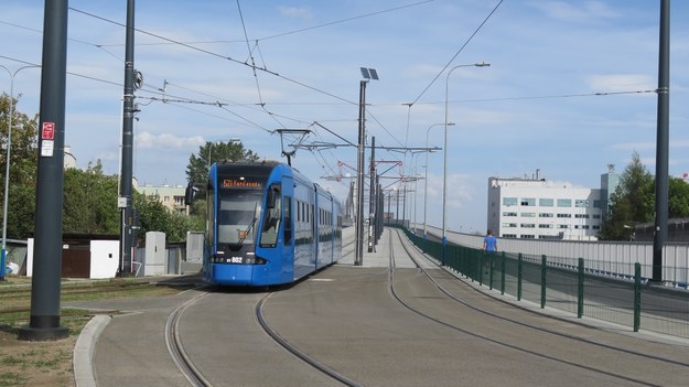
[(502, 238), (596, 240), (601, 190), (545, 179), (488, 179), (488, 228)]

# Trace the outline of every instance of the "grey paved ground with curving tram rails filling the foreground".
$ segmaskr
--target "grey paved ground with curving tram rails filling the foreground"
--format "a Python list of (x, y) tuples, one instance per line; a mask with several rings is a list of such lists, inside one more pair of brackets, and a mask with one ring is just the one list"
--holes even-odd
[[(376, 252), (365, 255), (364, 267), (347, 257), (272, 292), (263, 305), (268, 323), (362, 386), (685, 386), (689, 380), (686, 341), (552, 319), (424, 265), (434, 283), (410, 265), (409, 256), (418, 252), (408, 252), (389, 233)], [(338, 385), (262, 332), (256, 305), (265, 295), (200, 289), (82, 304), (130, 311), (111, 319), (95, 341), (96, 384), (189, 386), (168, 353), (164, 327), (175, 308), (195, 300), (181, 316), (180, 335), (212, 385)]]

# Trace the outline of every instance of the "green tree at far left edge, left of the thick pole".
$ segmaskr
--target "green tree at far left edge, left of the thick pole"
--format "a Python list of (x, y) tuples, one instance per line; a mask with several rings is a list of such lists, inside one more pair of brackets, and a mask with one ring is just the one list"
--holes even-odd
[[(8, 147), (8, 123), (12, 106), (12, 147), (10, 150), (10, 186), (8, 197), (8, 238), (22, 239), (33, 234), (35, 222), (35, 176), (37, 160), (37, 115), (30, 118), (17, 111), (17, 99), (0, 95), (0, 164), (4, 178)], [(4, 182), (4, 179), (3, 179)], [(4, 190), (0, 190), (0, 206)], [(2, 211), (4, 214), (4, 209)]]

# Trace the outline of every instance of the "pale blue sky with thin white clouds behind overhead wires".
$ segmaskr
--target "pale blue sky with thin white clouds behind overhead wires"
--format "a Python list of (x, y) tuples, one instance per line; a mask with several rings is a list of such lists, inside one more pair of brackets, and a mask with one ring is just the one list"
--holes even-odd
[[(107, 173), (119, 170), (126, 4), (69, 1), (67, 69), (75, 75), (67, 76), (65, 143), (78, 166), (101, 160)], [(549, 181), (599, 187), (606, 165), (622, 172), (634, 151), (655, 172), (657, 96), (650, 90), (658, 83), (659, 4), (139, 0), (134, 62), (144, 85), (137, 92), (134, 175), (140, 184), (186, 184), (190, 154), (205, 141), (230, 138), (280, 159), (276, 129), (313, 130), (304, 143), (356, 142), (359, 67), (373, 67), (380, 79), (367, 86), (367, 135), (376, 146), (423, 148), (428, 132), (428, 146), (442, 148), (437, 123), (444, 122), (448, 87), (448, 117), (455, 122), (448, 133), (448, 228), (483, 233), (489, 176), (539, 170)], [(41, 63), (43, 6), (2, 0), (0, 65), (13, 72)], [(491, 66), (459, 67), (446, 77), (451, 67), (478, 62)], [(689, 172), (687, 63), (689, 4), (674, 1), (675, 176)], [(0, 86), (9, 93), (1, 69)], [(40, 71), (18, 73), (14, 92), (20, 110), (37, 112)], [(356, 175), (346, 165), (355, 168), (356, 155), (347, 147), (299, 150), (292, 164), (344, 197), (347, 175)], [(377, 150), (376, 159), (401, 162), (389, 178), (427, 172), (423, 153)], [(321, 179), (335, 175), (344, 178)], [(440, 226), (442, 152), (429, 154), (428, 178), (428, 222)], [(383, 184), (399, 186), (394, 179)], [(423, 186), (419, 180), (419, 222)], [(412, 202), (410, 195), (408, 209)]]

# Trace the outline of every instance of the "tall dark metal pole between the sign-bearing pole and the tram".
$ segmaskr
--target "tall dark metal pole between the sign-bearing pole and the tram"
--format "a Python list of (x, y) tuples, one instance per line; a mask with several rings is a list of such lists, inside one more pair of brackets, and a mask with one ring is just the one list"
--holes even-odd
[(127, 0), (127, 33), (125, 41), (125, 104), (122, 111), (122, 170), (120, 172), (119, 207), (121, 209), (119, 276), (131, 273), (133, 226), (132, 159), (134, 119), (134, 0)]

